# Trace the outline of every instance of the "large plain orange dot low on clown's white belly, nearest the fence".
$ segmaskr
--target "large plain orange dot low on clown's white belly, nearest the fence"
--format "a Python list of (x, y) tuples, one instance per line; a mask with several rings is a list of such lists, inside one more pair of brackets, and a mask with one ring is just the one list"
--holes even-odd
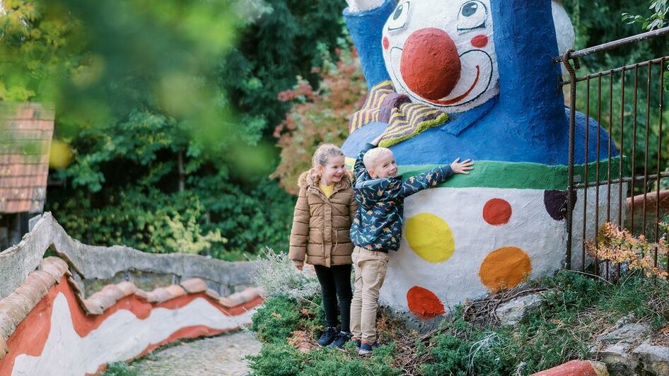
[(479, 268), (481, 282), (493, 293), (511, 288), (528, 278), (532, 264), (518, 247), (503, 247), (490, 252)]

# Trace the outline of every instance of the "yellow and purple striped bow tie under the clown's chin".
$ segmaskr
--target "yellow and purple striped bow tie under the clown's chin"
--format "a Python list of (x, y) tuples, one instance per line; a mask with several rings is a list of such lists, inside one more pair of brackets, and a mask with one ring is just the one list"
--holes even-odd
[(372, 88), (362, 109), (349, 120), (349, 133), (371, 122), (388, 122), (379, 146), (389, 147), (443, 124), (448, 114), (421, 103), (412, 103), (409, 97), (398, 94), (392, 81), (382, 81)]

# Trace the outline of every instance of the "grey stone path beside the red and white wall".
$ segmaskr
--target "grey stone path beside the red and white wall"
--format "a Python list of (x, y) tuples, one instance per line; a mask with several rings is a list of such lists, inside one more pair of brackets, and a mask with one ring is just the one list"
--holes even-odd
[(133, 363), (139, 375), (247, 375), (245, 356), (260, 352), (260, 341), (249, 331), (180, 343)]

